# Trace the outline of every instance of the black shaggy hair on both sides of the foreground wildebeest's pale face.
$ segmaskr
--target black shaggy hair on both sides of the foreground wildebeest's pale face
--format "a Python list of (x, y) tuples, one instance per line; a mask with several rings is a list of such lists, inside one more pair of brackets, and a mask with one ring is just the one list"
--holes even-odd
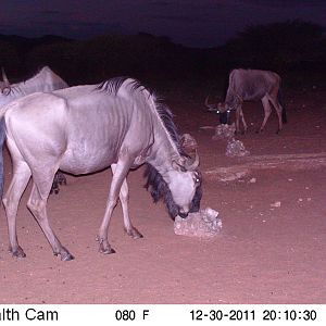
[[(202, 187), (201, 187), (201, 174), (199, 171), (197, 171), (199, 176), (199, 185), (196, 189), (195, 196), (192, 198), (191, 206), (189, 210), (189, 213), (198, 212), (200, 209), (200, 201), (202, 198)], [(168, 214), (172, 220), (175, 220), (175, 217), (179, 213), (178, 205), (174, 202), (172, 192), (166, 184), (166, 181), (163, 179), (162, 175), (156, 171), (155, 167), (153, 167), (150, 164), (147, 164), (147, 168), (145, 171), (145, 177), (147, 177), (147, 183), (145, 185), (145, 188), (150, 191), (153, 201), (156, 203), (160, 199), (162, 199), (167, 208)]]

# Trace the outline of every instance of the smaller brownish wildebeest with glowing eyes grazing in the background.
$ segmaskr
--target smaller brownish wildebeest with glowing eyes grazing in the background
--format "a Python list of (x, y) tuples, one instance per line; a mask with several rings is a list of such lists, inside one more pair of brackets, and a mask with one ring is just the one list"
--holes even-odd
[[(236, 111), (236, 131), (240, 133), (240, 118), (243, 131), (248, 129), (242, 112), (244, 101), (262, 101), (264, 106), (264, 120), (260, 127), (263, 131), (265, 124), (272, 113), (272, 105), (275, 108), (278, 117), (279, 133), (283, 123), (287, 122), (286, 110), (280, 104), (280, 77), (274, 72), (258, 70), (233, 70), (229, 74), (228, 89), (224, 103), (218, 103), (216, 109), (221, 112)], [(211, 108), (213, 105), (211, 104)]]

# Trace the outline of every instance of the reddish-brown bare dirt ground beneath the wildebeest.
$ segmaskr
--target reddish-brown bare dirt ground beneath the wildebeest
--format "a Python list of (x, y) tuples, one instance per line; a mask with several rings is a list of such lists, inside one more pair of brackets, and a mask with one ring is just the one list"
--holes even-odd
[[(227, 158), (225, 141), (212, 140), (217, 117), (200, 101), (167, 99), (181, 133), (199, 143), (203, 173), (202, 208), (220, 212), (222, 233), (211, 240), (176, 236), (162, 203), (143, 189), (143, 168), (130, 172), (130, 214), (143, 239), (123, 231), (118, 205), (110, 225), (115, 254), (98, 252), (109, 170), (67, 176), (49, 199), (52, 226), (75, 260), (61, 262), (26, 209), (30, 185), (18, 210), (17, 233), (27, 256), (8, 253), (7, 221), (0, 218), (0, 304), (4, 303), (326, 303), (325, 166), (255, 168), (243, 178), (221, 181), (208, 171), (241, 164)], [(276, 135), (273, 112), (264, 134), (259, 103), (243, 113), (249, 133), (239, 136), (255, 155), (326, 152), (326, 92), (289, 92), (288, 124)], [(5, 188), (11, 163), (5, 151)], [(253, 181), (254, 180), (254, 181)]]

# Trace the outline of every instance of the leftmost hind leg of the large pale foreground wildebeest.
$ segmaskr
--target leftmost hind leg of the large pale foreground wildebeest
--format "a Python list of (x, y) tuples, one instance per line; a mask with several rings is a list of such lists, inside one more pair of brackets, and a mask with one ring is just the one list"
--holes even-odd
[(24, 250), (20, 247), (16, 233), (16, 216), (21, 197), (30, 178), (30, 170), (25, 162), (15, 162), (13, 156), (13, 178), (9, 189), (3, 198), (3, 205), (8, 220), (8, 231), (10, 247), (9, 251), (13, 256), (26, 256)]

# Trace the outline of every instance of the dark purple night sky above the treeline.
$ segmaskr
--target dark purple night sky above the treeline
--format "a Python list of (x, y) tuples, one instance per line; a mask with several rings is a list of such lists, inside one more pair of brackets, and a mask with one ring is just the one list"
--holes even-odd
[(214, 47), (248, 25), (303, 20), (326, 27), (325, 0), (1, 0), (0, 34), (150, 33), (190, 47)]

